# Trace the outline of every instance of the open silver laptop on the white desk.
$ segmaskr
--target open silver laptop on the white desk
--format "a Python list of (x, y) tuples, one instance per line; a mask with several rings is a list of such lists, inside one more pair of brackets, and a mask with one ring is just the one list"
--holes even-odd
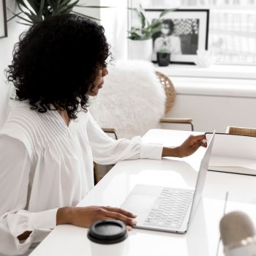
[(171, 233), (187, 232), (189, 219), (195, 213), (203, 192), (214, 137), (215, 132), (201, 160), (195, 189), (146, 184), (138, 184), (132, 189), (121, 208), (137, 214), (135, 228)]

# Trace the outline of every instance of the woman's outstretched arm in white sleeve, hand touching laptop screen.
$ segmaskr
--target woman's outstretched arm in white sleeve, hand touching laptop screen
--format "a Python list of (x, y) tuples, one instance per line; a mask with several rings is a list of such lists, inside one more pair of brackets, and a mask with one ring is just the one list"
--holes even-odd
[(142, 143), (141, 138), (113, 140), (102, 131), (91, 114), (88, 114), (87, 132), (94, 161), (102, 165), (113, 164), (124, 159), (188, 157), (200, 146), (206, 146), (203, 142), (204, 135), (191, 135), (178, 147), (163, 147), (160, 143)]

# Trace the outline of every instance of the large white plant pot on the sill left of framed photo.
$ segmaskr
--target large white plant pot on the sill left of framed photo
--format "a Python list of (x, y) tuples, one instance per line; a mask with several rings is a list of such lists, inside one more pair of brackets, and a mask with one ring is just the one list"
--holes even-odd
[(143, 59), (151, 61), (153, 42), (152, 39), (147, 40), (131, 40), (129, 39), (129, 59)]

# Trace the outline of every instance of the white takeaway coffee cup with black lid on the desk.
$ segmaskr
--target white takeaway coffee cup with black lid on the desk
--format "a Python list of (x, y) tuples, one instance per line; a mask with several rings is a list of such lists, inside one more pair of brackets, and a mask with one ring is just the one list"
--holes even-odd
[(126, 254), (128, 232), (123, 222), (118, 220), (101, 220), (89, 228), (91, 255), (124, 256)]

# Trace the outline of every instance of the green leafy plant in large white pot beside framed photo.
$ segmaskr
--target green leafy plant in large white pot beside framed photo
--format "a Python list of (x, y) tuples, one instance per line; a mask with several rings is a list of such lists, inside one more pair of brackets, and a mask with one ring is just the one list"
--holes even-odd
[(168, 12), (172, 12), (176, 9), (167, 9), (159, 14), (159, 17), (152, 20), (151, 22), (146, 18), (145, 10), (142, 5), (138, 8), (129, 8), (136, 13), (140, 21), (140, 26), (132, 28), (128, 31), (129, 33), (129, 59), (143, 59), (151, 61), (152, 55), (152, 35), (160, 31), (160, 25), (164, 20), (164, 16)]

